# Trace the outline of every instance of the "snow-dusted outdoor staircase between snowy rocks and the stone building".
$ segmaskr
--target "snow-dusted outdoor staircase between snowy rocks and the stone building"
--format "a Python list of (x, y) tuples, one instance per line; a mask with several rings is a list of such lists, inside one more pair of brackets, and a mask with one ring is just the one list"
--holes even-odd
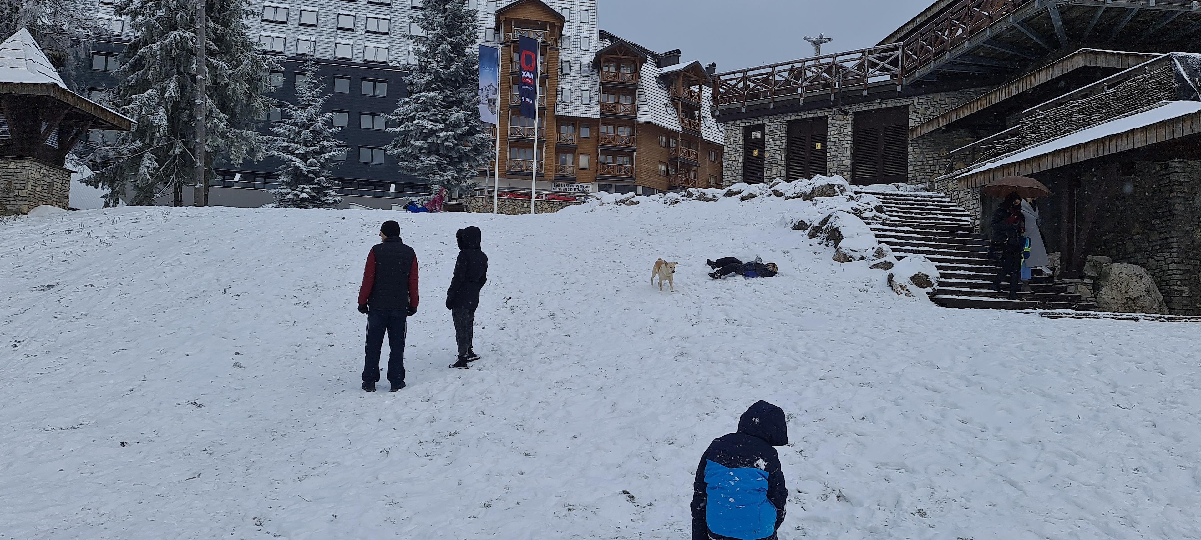
[(972, 232), (972, 216), (942, 193), (873, 192), (884, 204), (886, 217), (868, 220), (880, 244), (897, 258), (921, 254), (939, 271), (938, 287), (930, 294), (943, 307), (984, 310), (1093, 310), (1094, 304), (1068, 294), (1068, 286), (1051, 277), (1034, 277), (1032, 292), (1018, 292), (1020, 300), (1009, 300), (1009, 283), (1002, 292), (992, 282), (1000, 262), (985, 258), (988, 241)]

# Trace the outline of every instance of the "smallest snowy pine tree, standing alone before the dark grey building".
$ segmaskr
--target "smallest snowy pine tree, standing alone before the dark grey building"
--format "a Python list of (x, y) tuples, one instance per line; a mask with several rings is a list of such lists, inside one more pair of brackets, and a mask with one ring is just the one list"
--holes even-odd
[(323, 112), (329, 98), (325, 84), (317, 76), (317, 64), (310, 58), (306, 76), (297, 84), (297, 102), (283, 106), (285, 119), (271, 127), (267, 154), (283, 160), (276, 169), (281, 186), (274, 190), (275, 208), (329, 208), (342, 202), (334, 192), (341, 182), (330, 178), (334, 156), (349, 149), (334, 138), (334, 113)]

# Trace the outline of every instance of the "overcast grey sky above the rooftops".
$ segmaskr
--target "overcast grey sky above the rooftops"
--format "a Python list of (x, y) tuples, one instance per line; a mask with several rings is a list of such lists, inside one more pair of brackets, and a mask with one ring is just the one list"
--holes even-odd
[(599, 0), (600, 29), (731, 71), (872, 47), (934, 0)]

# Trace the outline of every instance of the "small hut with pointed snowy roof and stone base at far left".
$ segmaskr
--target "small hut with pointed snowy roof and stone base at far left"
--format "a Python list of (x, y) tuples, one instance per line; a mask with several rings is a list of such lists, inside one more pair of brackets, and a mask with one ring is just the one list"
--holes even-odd
[(0, 43), (0, 215), (41, 205), (66, 209), (67, 152), (91, 127), (132, 121), (72, 92), (28, 30)]

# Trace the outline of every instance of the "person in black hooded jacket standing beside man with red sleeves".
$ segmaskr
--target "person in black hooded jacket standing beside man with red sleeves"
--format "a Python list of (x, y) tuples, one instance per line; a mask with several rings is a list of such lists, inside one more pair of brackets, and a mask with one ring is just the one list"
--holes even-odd
[(459, 260), (454, 264), (450, 289), (447, 290), (447, 310), (454, 320), (454, 338), (459, 344), (459, 360), (450, 367), (466, 370), (467, 362), (479, 360), (472, 348), (476, 326), (476, 307), (479, 306), (479, 289), (488, 282), (488, 256), (480, 250), (479, 227), (467, 227), (455, 233), (459, 240)]

